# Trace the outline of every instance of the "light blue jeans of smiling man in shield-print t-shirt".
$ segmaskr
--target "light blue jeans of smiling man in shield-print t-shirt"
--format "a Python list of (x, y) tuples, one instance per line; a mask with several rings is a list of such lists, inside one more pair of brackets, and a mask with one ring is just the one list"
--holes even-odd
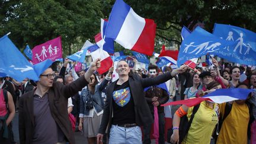
[(139, 144), (142, 143), (142, 132), (139, 126), (120, 127), (112, 125), (110, 129), (109, 144)]

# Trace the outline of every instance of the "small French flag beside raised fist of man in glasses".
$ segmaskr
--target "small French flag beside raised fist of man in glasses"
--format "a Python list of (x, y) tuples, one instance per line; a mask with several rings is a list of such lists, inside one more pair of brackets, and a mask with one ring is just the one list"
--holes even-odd
[(88, 51), (89, 53), (91, 53), (92, 60), (98, 58), (101, 59), (101, 67), (97, 70), (98, 73), (102, 74), (104, 72), (107, 72), (108, 69), (110, 69), (110, 67), (113, 65), (113, 60), (111, 59), (110, 55), (108, 55), (105, 50), (100, 49), (97, 44), (89, 46)]

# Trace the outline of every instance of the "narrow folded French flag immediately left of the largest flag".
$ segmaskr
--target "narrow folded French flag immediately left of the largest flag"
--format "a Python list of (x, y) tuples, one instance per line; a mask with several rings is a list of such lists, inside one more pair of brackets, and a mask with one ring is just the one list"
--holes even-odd
[(114, 40), (110, 38), (104, 39), (105, 36), (105, 28), (107, 27), (107, 20), (103, 20), (101, 18), (101, 33), (98, 33), (94, 36), (95, 42), (98, 47), (103, 47), (103, 50), (106, 52), (113, 54), (114, 53)]

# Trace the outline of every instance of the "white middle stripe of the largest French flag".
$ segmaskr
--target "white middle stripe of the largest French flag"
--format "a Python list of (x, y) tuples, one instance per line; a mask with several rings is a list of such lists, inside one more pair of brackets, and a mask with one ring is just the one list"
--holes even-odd
[(145, 24), (145, 19), (137, 15), (133, 9), (130, 8), (116, 38), (117, 43), (121, 44), (121, 46), (126, 49), (132, 49), (139, 39)]

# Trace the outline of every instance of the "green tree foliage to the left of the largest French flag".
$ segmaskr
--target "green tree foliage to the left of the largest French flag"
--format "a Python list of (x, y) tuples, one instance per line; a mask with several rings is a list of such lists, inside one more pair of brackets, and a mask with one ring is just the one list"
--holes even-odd
[(19, 48), (25, 44), (34, 47), (61, 36), (64, 55), (70, 55), (100, 31), (103, 14), (97, 0), (1, 2), (4, 9), (0, 17), (0, 34), (11, 31), (9, 37)]

